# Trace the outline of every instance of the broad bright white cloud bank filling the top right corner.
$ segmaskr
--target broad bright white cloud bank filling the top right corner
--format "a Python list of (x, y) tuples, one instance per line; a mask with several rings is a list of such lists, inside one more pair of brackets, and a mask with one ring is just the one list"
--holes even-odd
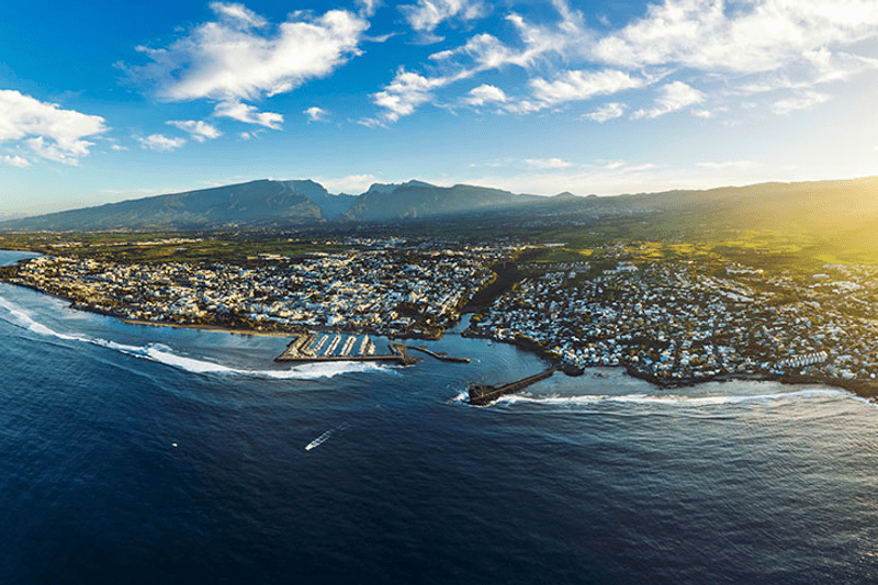
[[(666, 0), (601, 38), (594, 58), (619, 66), (683, 66), (740, 75), (788, 70), (808, 82), (849, 75), (864, 61), (833, 46), (878, 35), (873, 0)], [(837, 57), (837, 58), (836, 58)]]

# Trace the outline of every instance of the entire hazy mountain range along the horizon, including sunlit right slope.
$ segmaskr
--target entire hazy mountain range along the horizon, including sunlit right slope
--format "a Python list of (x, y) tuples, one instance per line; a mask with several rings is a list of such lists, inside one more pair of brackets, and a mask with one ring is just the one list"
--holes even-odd
[[(688, 222), (836, 237), (878, 233), (878, 178), (798, 183), (759, 183), (705, 191), (666, 191), (617, 196), (555, 196), (423, 181), (375, 183), (359, 195), (330, 194), (311, 180), (257, 180), (212, 189), (122, 201), (46, 215), (7, 220), (0, 229), (187, 230), (289, 228), (418, 220), (513, 217), (526, 222), (594, 222), (653, 216), (668, 229)], [(668, 223), (669, 222), (669, 223)], [(829, 237), (828, 236), (828, 237)]]

